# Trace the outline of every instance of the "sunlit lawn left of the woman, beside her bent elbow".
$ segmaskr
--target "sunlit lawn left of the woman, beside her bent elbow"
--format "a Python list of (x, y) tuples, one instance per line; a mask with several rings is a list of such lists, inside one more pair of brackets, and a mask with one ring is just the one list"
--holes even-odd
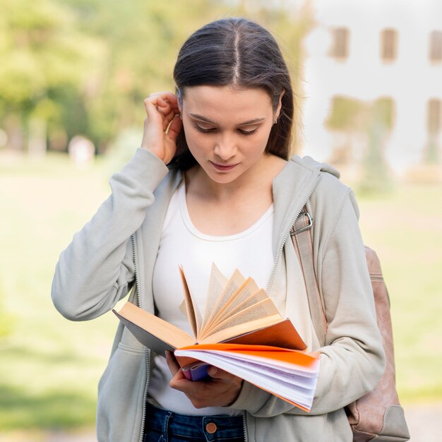
[(0, 430), (95, 420), (115, 319), (66, 321), (50, 292), (60, 251), (109, 192), (101, 170), (0, 158)]

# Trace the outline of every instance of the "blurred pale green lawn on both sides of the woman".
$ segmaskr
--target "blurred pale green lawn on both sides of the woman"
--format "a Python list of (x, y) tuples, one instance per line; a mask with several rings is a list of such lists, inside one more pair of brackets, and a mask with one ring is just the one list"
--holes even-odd
[[(59, 253), (108, 195), (108, 179), (109, 164), (79, 170), (64, 155), (0, 155), (0, 432), (94, 423), (117, 321), (66, 321), (50, 290)], [(442, 400), (441, 202), (441, 185), (359, 200), (364, 240), (390, 289), (403, 402)]]

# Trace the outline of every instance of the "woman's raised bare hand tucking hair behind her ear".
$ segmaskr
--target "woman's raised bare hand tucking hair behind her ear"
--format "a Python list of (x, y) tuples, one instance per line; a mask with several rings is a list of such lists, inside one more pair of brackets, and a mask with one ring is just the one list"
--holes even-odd
[(141, 148), (150, 150), (167, 165), (177, 150), (177, 136), (182, 122), (176, 95), (156, 92), (144, 100), (144, 120)]

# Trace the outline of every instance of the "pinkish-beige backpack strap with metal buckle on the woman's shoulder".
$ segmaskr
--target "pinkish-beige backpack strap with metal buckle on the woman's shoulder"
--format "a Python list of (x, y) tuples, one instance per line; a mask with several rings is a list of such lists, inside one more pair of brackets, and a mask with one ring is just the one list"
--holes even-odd
[(292, 237), (294, 249), (297, 253), (304, 275), (307, 297), (309, 299), (309, 310), (313, 327), (318, 337), (319, 343), (325, 345), (325, 335), (327, 333), (327, 320), (325, 318), (324, 306), (319, 292), (318, 281), (316, 279), (313, 265), (313, 241), (311, 238), (311, 227), (313, 217), (307, 212), (304, 206), (303, 211), (297, 217), (290, 237)]

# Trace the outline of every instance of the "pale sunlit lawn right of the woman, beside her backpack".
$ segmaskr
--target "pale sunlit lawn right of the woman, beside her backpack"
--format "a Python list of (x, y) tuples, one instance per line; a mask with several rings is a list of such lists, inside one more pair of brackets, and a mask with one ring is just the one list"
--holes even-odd
[(390, 293), (400, 399), (441, 400), (442, 184), (397, 184), (359, 205)]

